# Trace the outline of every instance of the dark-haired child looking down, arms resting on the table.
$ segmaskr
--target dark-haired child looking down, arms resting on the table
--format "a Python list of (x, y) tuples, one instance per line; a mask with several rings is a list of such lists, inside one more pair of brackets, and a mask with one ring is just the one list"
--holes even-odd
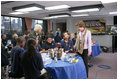
[(52, 49), (52, 48), (55, 48), (55, 47), (56, 47), (56, 44), (52, 40), (52, 36), (51, 35), (48, 35), (46, 37), (46, 42), (43, 43), (43, 45), (42, 45), (42, 51), (40, 51), (40, 52), (41, 53), (47, 53), (48, 52), (48, 49)]

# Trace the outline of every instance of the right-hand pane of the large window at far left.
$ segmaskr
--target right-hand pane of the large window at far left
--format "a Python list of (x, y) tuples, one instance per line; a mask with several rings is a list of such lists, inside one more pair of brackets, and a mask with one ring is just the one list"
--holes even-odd
[(11, 31), (12, 33), (22, 33), (22, 19), (11, 17)]

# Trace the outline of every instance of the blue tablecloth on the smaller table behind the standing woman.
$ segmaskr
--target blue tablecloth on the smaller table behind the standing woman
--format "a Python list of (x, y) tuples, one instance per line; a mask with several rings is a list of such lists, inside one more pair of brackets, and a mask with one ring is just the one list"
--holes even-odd
[(101, 53), (101, 48), (99, 43), (96, 42), (95, 45), (92, 46), (92, 57), (98, 56)]

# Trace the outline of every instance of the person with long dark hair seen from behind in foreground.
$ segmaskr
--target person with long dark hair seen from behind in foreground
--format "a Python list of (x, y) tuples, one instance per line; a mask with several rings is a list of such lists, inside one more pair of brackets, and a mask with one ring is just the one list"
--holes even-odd
[(41, 54), (36, 50), (36, 41), (29, 39), (27, 50), (22, 58), (23, 70), (26, 79), (41, 78), (41, 70), (44, 68)]

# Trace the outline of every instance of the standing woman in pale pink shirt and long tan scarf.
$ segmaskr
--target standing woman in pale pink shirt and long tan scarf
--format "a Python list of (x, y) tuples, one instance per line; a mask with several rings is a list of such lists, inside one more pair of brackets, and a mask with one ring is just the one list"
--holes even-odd
[(78, 31), (75, 48), (79, 55), (83, 58), (85, 63), (87, 77), (88, 77), (88, 56), (91, 55), (91, 32), (85, 28), (85, 23), (79, 21), (76, 24)]

